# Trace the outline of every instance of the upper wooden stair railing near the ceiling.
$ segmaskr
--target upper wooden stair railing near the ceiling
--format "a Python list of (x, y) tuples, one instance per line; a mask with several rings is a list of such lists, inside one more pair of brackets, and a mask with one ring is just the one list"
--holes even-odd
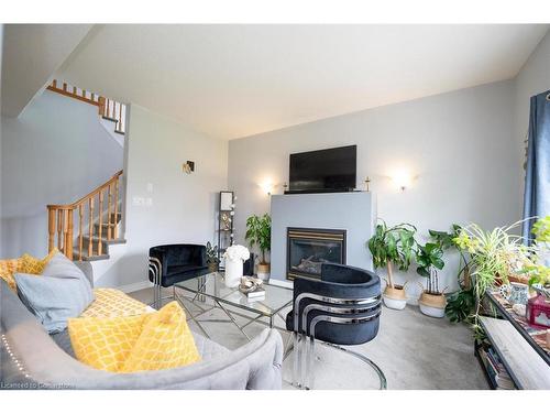
[(52, 85), (50, 85), (46, 89), (97, 106), (99, 116), (116, 122), (114, 131), (117, 133), (125, 133), (127, 106), (124, 104), (113, 99), (108, 99), (89, 90), (80, 89), (76, 86), (70, 86), (66, 81), (58, 83), (57, 80), (53, 80)]

